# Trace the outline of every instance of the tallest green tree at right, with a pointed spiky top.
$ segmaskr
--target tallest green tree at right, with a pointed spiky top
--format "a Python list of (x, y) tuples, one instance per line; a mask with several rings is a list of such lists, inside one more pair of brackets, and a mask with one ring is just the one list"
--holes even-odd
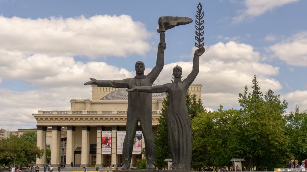
[(248, 168), (256, 166), (258, 171), (272, 170), (276, 166), (284, 166), (286, 162), (285, 148), (288, 142), (283, 114), (288, 103), (286, 100), (281, 102), (280, 95), (274, 95), (272, 90), (266, 92), (264, 100), (256, 76), (252, 88), (252, 93), (248, 94), (245, 86), (243, 94), (239, 94), (245, 123), (243, 157), (247, 159)]

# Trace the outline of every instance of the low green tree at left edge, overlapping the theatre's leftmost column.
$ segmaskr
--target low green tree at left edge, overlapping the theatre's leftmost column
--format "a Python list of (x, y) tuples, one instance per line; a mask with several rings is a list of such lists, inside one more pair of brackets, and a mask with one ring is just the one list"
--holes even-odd
[(33, 144), (17, 136), (0, 140), (0, 164), (14, 165), (14, 154), (16, 153), (16, 165), (27, 166), (27, 164), (36, 161), (36, 158), (41, 158), (44, 153)]

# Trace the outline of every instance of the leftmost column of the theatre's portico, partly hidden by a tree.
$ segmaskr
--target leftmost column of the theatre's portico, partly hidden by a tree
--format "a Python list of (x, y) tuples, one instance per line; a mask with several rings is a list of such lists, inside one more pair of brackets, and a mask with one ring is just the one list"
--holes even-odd
[(46, 131), (47, 127), (42, 125), (37, 125), (37, 140), (36, 145), (40, 149), (44, 149), (44, 154), (41, 158), (36, 159), (36, 165), (43, 166), (46, 164)]

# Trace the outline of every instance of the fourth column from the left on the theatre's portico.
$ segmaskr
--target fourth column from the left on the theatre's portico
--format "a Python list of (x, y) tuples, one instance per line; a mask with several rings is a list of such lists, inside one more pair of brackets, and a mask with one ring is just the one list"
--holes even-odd
[(90, 127), (82, 125), (81, 137), (81, 165), (80, 167), (89, 167), (89, 131)]

